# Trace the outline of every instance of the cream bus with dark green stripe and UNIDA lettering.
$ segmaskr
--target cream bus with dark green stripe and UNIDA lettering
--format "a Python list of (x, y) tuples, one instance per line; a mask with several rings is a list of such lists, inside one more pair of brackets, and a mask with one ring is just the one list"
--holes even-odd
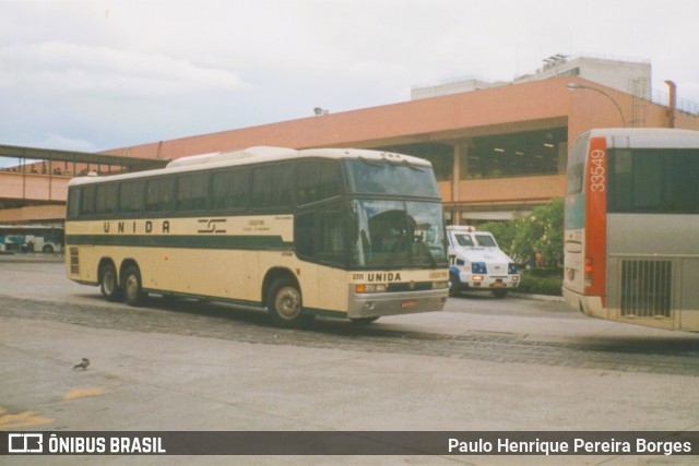
[(69, 184), (68, 277), (149, 294), (371, 322), (438, 311), (449, 286), (431, 165), (363, 150), (251, 147)]

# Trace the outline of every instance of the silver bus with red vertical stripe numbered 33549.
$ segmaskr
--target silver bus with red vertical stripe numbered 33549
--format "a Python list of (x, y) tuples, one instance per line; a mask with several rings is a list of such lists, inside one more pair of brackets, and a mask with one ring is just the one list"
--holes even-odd
[(566, 301), (587, 315), (699, 331), (699, 132), (600, 129), (566, 188)]

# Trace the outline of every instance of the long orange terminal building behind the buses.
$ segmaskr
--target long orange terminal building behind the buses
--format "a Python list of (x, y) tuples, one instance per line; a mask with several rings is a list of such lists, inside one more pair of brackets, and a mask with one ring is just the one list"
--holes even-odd
[[(309, 108), (308, 118), (95, 154), (92, 169), (139, 169), (134, 160), (143, 168), (162, 166), (256, 145), (393, 151), (433, 163), (448, 223), (511, 219), (564, 195), (568, 148), (584, 131), (699, 130), (699, 106), (678, 100), (671, 81), (664, 85), (665, 92), (652, 87), (648, 61), (557, 55), (511, 82), (465, 77), (415, 86), (411, 100), (396, 104), (336, 113)], [(69, 167), (67, 157), (52, 166)], [(83, 167), (85, 159), (80, 160)], [(48, 171), (0, 172), (0, 223), (62, 218), (66, 184), (75, 170)], [(14, 177), (13, 190), (5, 177)], [(21, 190), (17, 177), (24, 177)], [(42, 183), (48, 191), (38, 189)]]

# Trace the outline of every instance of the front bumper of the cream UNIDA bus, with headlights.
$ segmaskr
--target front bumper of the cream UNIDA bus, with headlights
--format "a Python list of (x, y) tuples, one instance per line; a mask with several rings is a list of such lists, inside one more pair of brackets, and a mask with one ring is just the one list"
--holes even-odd
[(347, 318), (378, 318), (441, 311), (447, 302), (448, 294), (448, 289), (367, 294), (358, 294), (351, 289)]

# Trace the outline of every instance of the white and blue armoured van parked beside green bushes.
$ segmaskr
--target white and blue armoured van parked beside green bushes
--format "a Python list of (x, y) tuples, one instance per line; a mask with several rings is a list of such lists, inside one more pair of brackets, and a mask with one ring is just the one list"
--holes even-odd
[(517, 264), (498, 248), (488, 231), (471, 226), (447, 227), (449, 238), (449, 292), (489, 290), (496, 298), (520, 284)]

